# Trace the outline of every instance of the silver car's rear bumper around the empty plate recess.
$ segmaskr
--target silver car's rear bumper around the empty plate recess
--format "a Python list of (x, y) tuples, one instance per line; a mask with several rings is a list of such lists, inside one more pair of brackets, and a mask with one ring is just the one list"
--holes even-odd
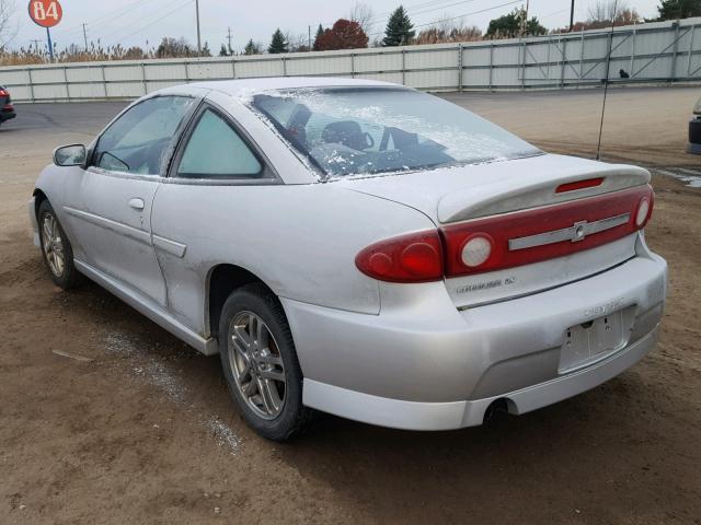
[[(525, 413), (593, 388), (651, 351), (666, 269), (653, 255), (545, 292), (459, 312), (443, 283), (384, 290), (366, 315), (281, 300), (304, 374), (303, 402), (411, 430), (481, 424), (505, 398)], [(414, 293), (413, 301), (405, 294)], [(393, 296), (402, 295), (402, 296)], [(624, 346), (563, 371), (568, 327), (624, 310)]]

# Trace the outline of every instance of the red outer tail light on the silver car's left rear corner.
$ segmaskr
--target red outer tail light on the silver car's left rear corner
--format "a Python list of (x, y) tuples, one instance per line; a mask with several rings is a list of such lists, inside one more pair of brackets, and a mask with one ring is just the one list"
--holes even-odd
[(392, 237), (371, 244), (355, 258), (358, 269), (390, 282), (443, 279), (443, 245), (437, 230)]

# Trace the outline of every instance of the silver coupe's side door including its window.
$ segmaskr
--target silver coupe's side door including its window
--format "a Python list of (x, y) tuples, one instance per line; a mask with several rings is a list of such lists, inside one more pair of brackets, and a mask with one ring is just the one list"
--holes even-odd
[(88, 168), (71, 172), (64, 199), (77, 257), (163, 306), (151, 206), (196, 102), (156, 96), (131, 106), (97, 139)]

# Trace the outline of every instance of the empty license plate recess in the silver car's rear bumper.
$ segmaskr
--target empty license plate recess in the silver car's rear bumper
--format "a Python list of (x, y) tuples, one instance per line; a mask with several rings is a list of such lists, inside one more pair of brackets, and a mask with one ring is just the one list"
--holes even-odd
[(596, 319), (571, 326), (560, 351), (561, 374), (591, 364), (620, 350), (628, 342), (624, 311), (611, 312)]

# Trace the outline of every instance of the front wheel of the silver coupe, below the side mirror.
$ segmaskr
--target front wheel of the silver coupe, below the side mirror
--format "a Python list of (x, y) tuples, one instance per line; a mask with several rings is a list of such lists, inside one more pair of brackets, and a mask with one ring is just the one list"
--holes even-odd
[(70, 290), (82, 279), (73, 265), (73, 248), (48, 200), (42, 201), (36, 215), (42, 256), (51, 281), (64, 290)]

